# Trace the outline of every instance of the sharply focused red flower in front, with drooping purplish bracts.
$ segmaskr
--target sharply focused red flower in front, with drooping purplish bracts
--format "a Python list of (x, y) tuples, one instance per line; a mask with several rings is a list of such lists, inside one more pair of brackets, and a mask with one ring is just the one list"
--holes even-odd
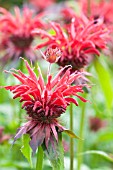
[(48, 148), (48, 143), (53, 143), (53, 139), (58, 141), (58, 132), (66, 130), (59, 123), (58, 118), (71, 102), (78, 106), (78, 102), (70, 96), (76, 96), (83, 102), (87, 100), (77, 94), (83, 93), (83, 85), (72, 85), (73, 81), (81, 77), (81, 74), (70, 74), (70, 66), (67, 66), (67, 69), (62, 68), (54, 78), (48, 74), (47, 83), (45, 83), (39, 67), (39, 76), (36, 77), (27, 61), (25, 64), (29, 75), (12, 69), (10, 73), (21, 84), (6, 86), (5, 89), (15, 94), (14, 99), (20, 97), (20, 102), (23, 102), (22, 108), (28, 115), (28, 122), (18, 129), (14, 141), (23, 134), (29, 134), (30, 146), (35, 152), (42, 143)]

